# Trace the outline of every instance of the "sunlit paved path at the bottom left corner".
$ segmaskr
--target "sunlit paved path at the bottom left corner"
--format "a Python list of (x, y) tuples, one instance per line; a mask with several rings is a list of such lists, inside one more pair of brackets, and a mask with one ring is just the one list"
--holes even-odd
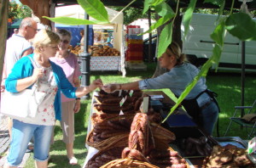
[[(6, 155), (8, 153), (9, 148), (9, 132), (7, 127), (7, 117), (0, 115), (0, 154), (3, 155), (3, 157), (0, 156), (0, 167), (2, 168), (5, 161), (6, 161)], [(20, 164), (19, 168), (25, 167), (26, 160), (29, 158), (30, 154), (26, 153), (23, 157), (22, 163)]]

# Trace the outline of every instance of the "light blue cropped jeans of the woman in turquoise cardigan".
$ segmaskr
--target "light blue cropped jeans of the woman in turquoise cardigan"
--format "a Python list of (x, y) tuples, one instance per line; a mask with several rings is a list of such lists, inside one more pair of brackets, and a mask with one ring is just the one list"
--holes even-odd
[(8, 165), (20, 165), (24, 154), (26, 153), (27, 144), (34, 137), (34, 159), (37, 161), (48, 160), (49, 142), (53, 126), (33, 125), (13, 120), (12, 137), (7, 157)]

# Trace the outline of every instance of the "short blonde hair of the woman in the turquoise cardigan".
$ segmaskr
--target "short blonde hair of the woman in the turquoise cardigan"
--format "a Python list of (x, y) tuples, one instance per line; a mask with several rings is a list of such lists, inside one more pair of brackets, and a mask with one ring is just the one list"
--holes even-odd
[(36, 36), (33, 38), (33, 48), (35, 53), (40, 53), (39, 48), (45, 47), (50, 44), (59, 44), (61, 41), (60, 36), (53, 31), (41, 30), (38, 31)]

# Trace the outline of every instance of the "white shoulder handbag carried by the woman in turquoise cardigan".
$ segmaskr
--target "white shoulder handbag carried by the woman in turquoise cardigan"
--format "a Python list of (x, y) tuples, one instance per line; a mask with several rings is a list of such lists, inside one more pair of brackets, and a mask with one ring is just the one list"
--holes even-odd
[(38, 81), (32, 86), (32, 89), (25, 89), (21, 92), (5, 90), (1, 96), (0, 113), (17, 120), (26, 117), (34, 118), (38, 111), (38, 105), (42, 103), (46, 94), (46, 92), (38, 92)]

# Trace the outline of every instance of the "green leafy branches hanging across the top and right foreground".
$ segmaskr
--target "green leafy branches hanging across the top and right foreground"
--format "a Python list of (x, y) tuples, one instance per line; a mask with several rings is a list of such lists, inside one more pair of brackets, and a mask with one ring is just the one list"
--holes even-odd
[[(131, 1), (131, 3), (135, 2), (136, 0)], [(169, 6), (166, 0), (145, 0), (144, 1), (144, 8), (143, 14), (146, 14), (148, 9), (152, 9), (155, 11), (156, 14), (160, 15), (160, 19), (157, 20), (154, 25), (151, 25), (148, 31), (145, 33), (149, 33), (160, 27), (160, 25), (165, 25), (168, 21), (171, 20), (170, 23), (165, 25), (165, 28), (160, 33), (160, 42), (158, 45), (158, 57), (164, 52), (166, 52), (167, 46), (172, 42), (172, 25), (173, 20), (175, 20), (177, 16), (177, 10), (179, 0), (177, 0), (177, 7), (176, 11), (174, 12), (172, 8)], [(216, 26), (215, 30), (212, 32), (211, 38), (215, 42), (214, 47), (212, 48), (212, 57), (207, 60), (206, 64), (204, 64), (201, 68), (200, 73), (198, 76), (195, 76), (195, 79), (191, 81), (188, 87), (183, 91), (181, 96), (177, 99), (177, 104), (172, 107), (169, 115), (172, 114), (174, 109), (177, 108), (178, 104), (181, 104), (183, 98), (185, 98), (191, 89), (195, 86), (196, 82), (201, 77), (207, 76), (207, 71), (212, 66), (212, 64), (218, 64), (218, 61), (221, 57), (221, 53), (224, 47), (224, 35), (226, 31), (229, 31), (231, 35), (236, 36), (242, 41), (250, 41), (256, 40), (256, 24), (253, 20), (247, 15), (243, 13), (236, 13), (233, 14), (233, 5), (235, 0), (232, 0), (232, 5), (230, 7), (230, 14), (225, 16), (223, 19), (220, 19), (220, 15), (224, 14), (224, 4), (225, 0), (205, 0), (204, 3), (212, 3), (214, 5), (218, 5), (218, 25)], [(49, 20), (66, 24), (66, 25), (90, 25), (90, 24), (108, 24), (111, 23), (111, 20), (108, 20), (108, 13), (104, 8), (103, 3), (100, 0), (78, 0), (78, 3), (90, 17), (93, 17), (96, 20), (79, 20), (79, 19), (71, 19), (66, 17), (59, 17), (59, 18), (47, 18)], [(131, 4), (130, 3), (130, 4)], [(192, 14), (195, 11), (197, 0), (190, 0), (189, 6), (186, 8), (185, 14), (183, 16), (184, 22), (184, 30), (185, 35), (189, 30), (189, 23), (192, 18)], [(129, 6), (128, 4), (127, 6)], [(127, 8), (127, 6), (125, 8)], [(123, 8), (123, 10), (125, 10)], [(123, 11), (122, 10), (122, 11)], [(120, 11), (120, 12), (122, 12)], [(169, 116), (168, 115), (168, 116)], [(167, 117), (166, 117), (167, 119)], [(165, 120), (166, 120), (165, 119)], [(164, 120), (164, 121), (165, 121)], [(164, 122), (163, 121), (163, 122)]]

